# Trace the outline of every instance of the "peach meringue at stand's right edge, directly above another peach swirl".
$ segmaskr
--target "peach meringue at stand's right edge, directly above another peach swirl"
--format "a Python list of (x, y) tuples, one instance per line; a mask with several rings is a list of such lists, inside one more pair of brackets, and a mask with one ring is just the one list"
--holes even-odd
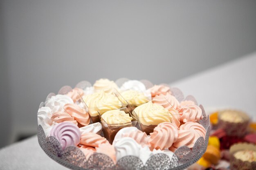
[(188, 121), (198, 121), (202, 118), (202, 110), (196, 105), (181, 106), (178, 109), (180, 113), (180, 121), (184, 123)]

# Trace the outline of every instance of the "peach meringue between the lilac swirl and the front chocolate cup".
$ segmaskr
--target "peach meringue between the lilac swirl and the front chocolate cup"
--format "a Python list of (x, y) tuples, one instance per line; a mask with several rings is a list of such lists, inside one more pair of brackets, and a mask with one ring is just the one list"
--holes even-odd
[(101, 137), (100, 135), (92, 132), (83, 133), (80, 139), (80, 144), (87, 145), (87, 146), (98, 147), (99, 144), (106, 144), (106, 143), (107, 144), (109, 143), (106, 138)]

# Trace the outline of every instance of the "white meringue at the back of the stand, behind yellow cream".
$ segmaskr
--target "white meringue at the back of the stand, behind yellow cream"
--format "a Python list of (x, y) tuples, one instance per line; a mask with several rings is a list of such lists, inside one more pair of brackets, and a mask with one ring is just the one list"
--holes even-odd
[(138, 80), (128, 80), (120, 88), (121, 91), (133, 90), (133, 91), (146, 91), (146, 86)]

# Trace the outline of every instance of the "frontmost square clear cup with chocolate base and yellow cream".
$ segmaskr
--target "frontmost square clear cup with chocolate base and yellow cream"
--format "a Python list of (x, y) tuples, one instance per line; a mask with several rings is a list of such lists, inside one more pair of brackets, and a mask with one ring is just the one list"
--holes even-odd
[(116, 110), (98, 111), (104, 137), (112, 144), (115, 135), (119, 130), (126, 127), (135, 126), (137, 120), (125, 112), (127, 108), (119, 108)]

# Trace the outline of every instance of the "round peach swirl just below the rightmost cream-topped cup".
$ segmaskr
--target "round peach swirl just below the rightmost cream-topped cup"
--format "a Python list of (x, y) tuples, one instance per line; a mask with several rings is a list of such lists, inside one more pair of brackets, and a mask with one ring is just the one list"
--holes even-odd
[(150, 133), (149, 143), (155, 149), (170, 148), (178, 138), (178, 130), (170, 122), (163, 122)]

